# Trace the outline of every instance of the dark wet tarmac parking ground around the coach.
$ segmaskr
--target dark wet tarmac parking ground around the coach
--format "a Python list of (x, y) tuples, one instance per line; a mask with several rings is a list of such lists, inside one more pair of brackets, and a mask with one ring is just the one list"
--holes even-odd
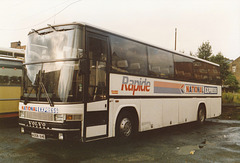
[(1, 121), (0, 162), (240, 162), (240, 124), (219, 122), (144, 132), (126, 143), (80, 143), (33, 139), (16, 120)]

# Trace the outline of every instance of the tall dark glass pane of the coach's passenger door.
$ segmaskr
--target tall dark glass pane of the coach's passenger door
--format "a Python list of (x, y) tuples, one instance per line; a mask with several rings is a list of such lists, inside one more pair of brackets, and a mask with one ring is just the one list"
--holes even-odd
[(88, 55), (90, 59), (89, 101), (104, 100), (107, 97), (107, 41), (95, 37), (89, 37), (88, 46)]

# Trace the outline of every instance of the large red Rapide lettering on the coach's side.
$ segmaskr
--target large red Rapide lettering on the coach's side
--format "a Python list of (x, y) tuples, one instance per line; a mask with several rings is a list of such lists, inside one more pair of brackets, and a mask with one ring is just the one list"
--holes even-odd
[(135, 92), (149, 92), (151, 83), (145, 78), (142, 80), (130, 80), (129, 77), (123, 76), (122, 80), (122, 91), (132, 91), (133, 95)]

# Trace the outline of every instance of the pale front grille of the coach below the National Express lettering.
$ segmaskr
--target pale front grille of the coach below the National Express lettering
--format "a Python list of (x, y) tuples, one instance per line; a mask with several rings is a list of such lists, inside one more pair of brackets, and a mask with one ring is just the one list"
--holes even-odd
[(44, 112), (30, 112), (27, 111), (24, 113), (24, 118), (26, 119), (36, 119), (42, 121), (54, 121), (54, 114), (44, 113)]

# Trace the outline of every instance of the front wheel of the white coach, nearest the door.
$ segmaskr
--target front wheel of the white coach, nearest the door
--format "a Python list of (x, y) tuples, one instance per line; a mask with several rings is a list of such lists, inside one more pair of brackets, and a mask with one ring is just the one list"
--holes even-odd
[(127, 112), (119, 115), (116, 125), (116, 136), (122, 140), (130, 139), (135, 134), (134, 120)]

